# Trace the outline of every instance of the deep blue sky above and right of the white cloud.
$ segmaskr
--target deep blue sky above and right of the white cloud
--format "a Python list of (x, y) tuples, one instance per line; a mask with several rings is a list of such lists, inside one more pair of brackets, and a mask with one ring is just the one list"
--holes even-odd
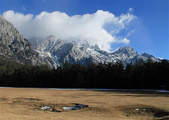
[(127, 37), (130, 43), (112, 43), (111, 50), (131, 46), (139, 53), (169, 59), (169, 0), (0, 0), (0, 15), (8, 10), (34, 16), (42, 11), (60, 11), (73, 16), (103, 10), (120, 16), (127, 14), (129, 8), (137, 20), (131, 21), (118, 36)]

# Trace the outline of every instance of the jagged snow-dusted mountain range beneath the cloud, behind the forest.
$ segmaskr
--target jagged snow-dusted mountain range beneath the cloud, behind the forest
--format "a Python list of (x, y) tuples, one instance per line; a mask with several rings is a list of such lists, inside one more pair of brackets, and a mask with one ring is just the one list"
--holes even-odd
[(32, 42), (39, 55), (44, 59), (50, 57), (57, 66), (66, 62), (83, 65), (116, 62), (122, 62), (126, 65), (127, 63), (135, 63), (137, 61), (146, 62), (148, 59), (151, 59), (153, 62), (160, 62), (160, 59), (147, 53), (140, 55), (131, 47), (119, 48), (113, 53), (108, 53), (101, 50), (98, 45), (90, 45), (87, 40), (84, 40), (82, 43), (76, 41), (67, 42), (56, 39), (51, 35), (45, 40), (39, 41), (36, 38)]

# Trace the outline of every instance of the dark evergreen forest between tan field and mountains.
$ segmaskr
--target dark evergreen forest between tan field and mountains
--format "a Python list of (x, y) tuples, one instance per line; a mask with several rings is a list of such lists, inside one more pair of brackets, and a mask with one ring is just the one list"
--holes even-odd
[(65, 64), (58, 69), (0, 60), (0, 86), (169, 90), (169, 62)]

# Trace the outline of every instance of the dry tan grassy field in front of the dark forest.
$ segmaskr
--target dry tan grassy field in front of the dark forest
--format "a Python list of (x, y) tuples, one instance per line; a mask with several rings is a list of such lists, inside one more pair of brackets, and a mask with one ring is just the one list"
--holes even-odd
[(169, 94), (0, 88), (0, 120), (169, 120)]

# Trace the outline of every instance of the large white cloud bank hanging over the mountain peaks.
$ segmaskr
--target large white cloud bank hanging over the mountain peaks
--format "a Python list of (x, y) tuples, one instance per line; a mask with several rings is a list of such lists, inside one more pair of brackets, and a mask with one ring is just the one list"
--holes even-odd
[(136, 18), (130, 13), (115, 16), (103, 10), (98, 10), (93, 14), (74, 16), (68, 16), (59, 11), (51, 13), (44, 11), (33, 16), (10, 10), (4, 12), (2, 16), (14, 24), (25, 38), (46, 37), (52, 34), (64, 40), (86, 39), (90, 44), (98, 44), (106, 51), (111, 50), (113, 43), (128, 44), (130, 42), (127, 38), (118, 36), (118, 33)]

